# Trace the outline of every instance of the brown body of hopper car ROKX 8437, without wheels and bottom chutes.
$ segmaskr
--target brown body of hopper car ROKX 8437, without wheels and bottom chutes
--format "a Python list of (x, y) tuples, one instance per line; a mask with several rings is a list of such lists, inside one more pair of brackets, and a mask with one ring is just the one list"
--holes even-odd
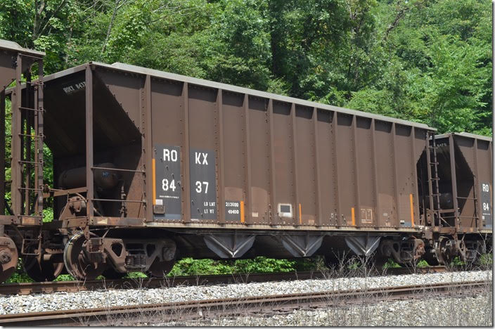
[[(96, 100), (92, 163), (117, 157), (117, 168), (134, 171), (120, 195), (98, 197), (104, 217), (282, 229), (420, 223), (415, 176), (426, 126), (99, 63), (47, 82), (56, 185), (62, 172), (86, 162), (88, 150), (75, 147), (86, 138), (86, 67)], [(56, 124), (63, 117), (68, 124)]]

